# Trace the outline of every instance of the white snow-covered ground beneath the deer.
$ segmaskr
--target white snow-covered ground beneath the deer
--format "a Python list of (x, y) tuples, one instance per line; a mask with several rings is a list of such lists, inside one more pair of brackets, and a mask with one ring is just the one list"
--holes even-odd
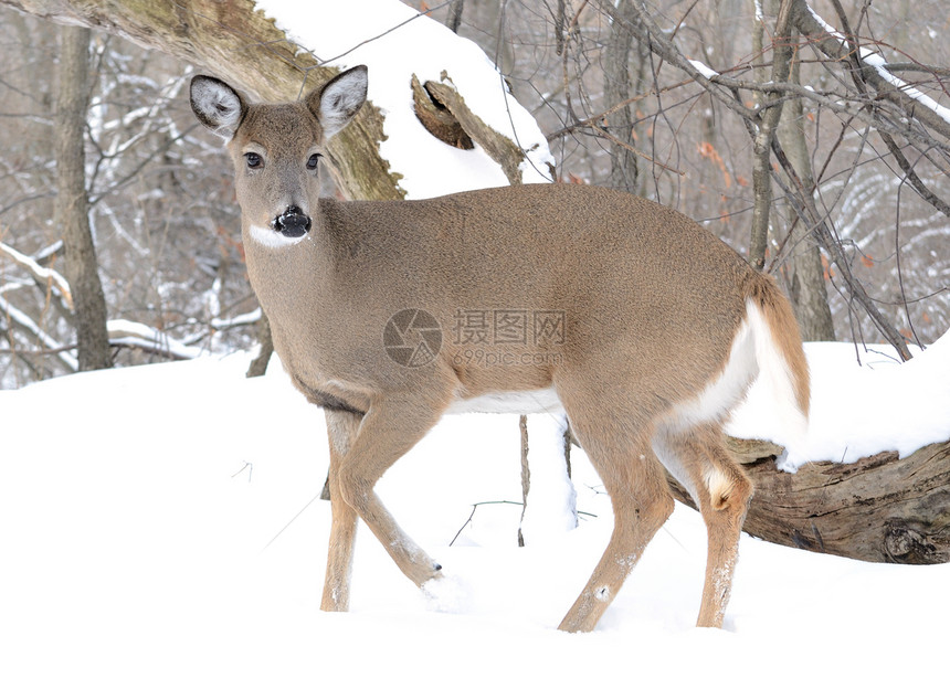
[[(847, 406), (855, 384), (886, 383), (906, 399), (939, 382), (944, 400), (929, 416), (946, 426), (946, 342), (874, 370), (852, 370), (851, 346), (811, 346), (816, 403), (851, 421), (861, 414)], [(247, 359), (0, 391), (0, 676), (946, 668), (950, 565), (868, 564), (743, 536), (726, 629), (694, 628), (705, 530), (683, 507), (598, 631), (556, 631), (605, 545), (610, 507), (576, 452), (578, 529), (538, 531), (519, 549), (520, 507), (509, 504), (479, 506), (466, 526), (474, 504), (520, 500), (514, 415), (446, 417), (380, 484), (402, 526), (445, 566), (439, 597), (419, 592), (363, 529), (352, 610), (323, 613), (329, 506), (314, 500), (327, 465), (323, 414), (276, 363), (244, 379)]]

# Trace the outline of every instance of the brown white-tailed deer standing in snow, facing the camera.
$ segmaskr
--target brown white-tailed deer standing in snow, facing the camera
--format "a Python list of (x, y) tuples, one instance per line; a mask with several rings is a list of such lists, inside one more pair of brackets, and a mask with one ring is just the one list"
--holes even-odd
[(560, 628), (594, 627), (668, 518), (664, 467), (706, 521), (698, 623), (720, 626), (752, 495), (722, 422), (761, 370), (790, 422), (806, 426), (808, 366), (788, 300), (694, 221), (626, 193), (543, 184), (321, 199), (320, 151), (366, 92), (363, 66), (291, 104), (191, 82), (196, 115), (234, 160), (247, 271), (274, 346), (326, 411), (321, 607), (348, 607), (357, 518), (416, 585), (441, 576), (373, 486), (443, 414), (562, 406), (614, 528)]

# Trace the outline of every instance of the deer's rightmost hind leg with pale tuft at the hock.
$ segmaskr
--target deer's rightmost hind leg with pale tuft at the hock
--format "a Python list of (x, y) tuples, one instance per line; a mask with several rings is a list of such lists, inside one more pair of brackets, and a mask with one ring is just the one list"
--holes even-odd
[(663, 463), (689, 491), (706, 522), (706, 581), (696, 625), (720, 628), (752, 484), (726, 451), (718, 423), (661, 428), (655, 442)]

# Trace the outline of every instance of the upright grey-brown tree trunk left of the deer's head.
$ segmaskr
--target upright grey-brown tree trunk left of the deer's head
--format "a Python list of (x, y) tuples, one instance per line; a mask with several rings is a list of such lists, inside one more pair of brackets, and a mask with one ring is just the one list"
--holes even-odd
[(60, 36), (55, 220), (63, 229), (80, 370), (98, 370), (110, 368), (113, 360), (86, 194), (84, 131), (89, 97), (89, 30), (63, 27)]

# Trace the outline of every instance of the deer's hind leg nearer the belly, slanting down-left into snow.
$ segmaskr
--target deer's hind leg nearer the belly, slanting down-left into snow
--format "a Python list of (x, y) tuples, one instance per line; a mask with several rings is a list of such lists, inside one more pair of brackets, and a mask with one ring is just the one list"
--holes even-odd
[(591, 427), (571, 419), (571, 425), (610, 495), (614, 515), (606, 550), (559, 626), (579, 632), (597, 626), (646, 544), (673, 512), (673, 497), (648, 435), (611, 435), (601, 428), (604, 421)]

